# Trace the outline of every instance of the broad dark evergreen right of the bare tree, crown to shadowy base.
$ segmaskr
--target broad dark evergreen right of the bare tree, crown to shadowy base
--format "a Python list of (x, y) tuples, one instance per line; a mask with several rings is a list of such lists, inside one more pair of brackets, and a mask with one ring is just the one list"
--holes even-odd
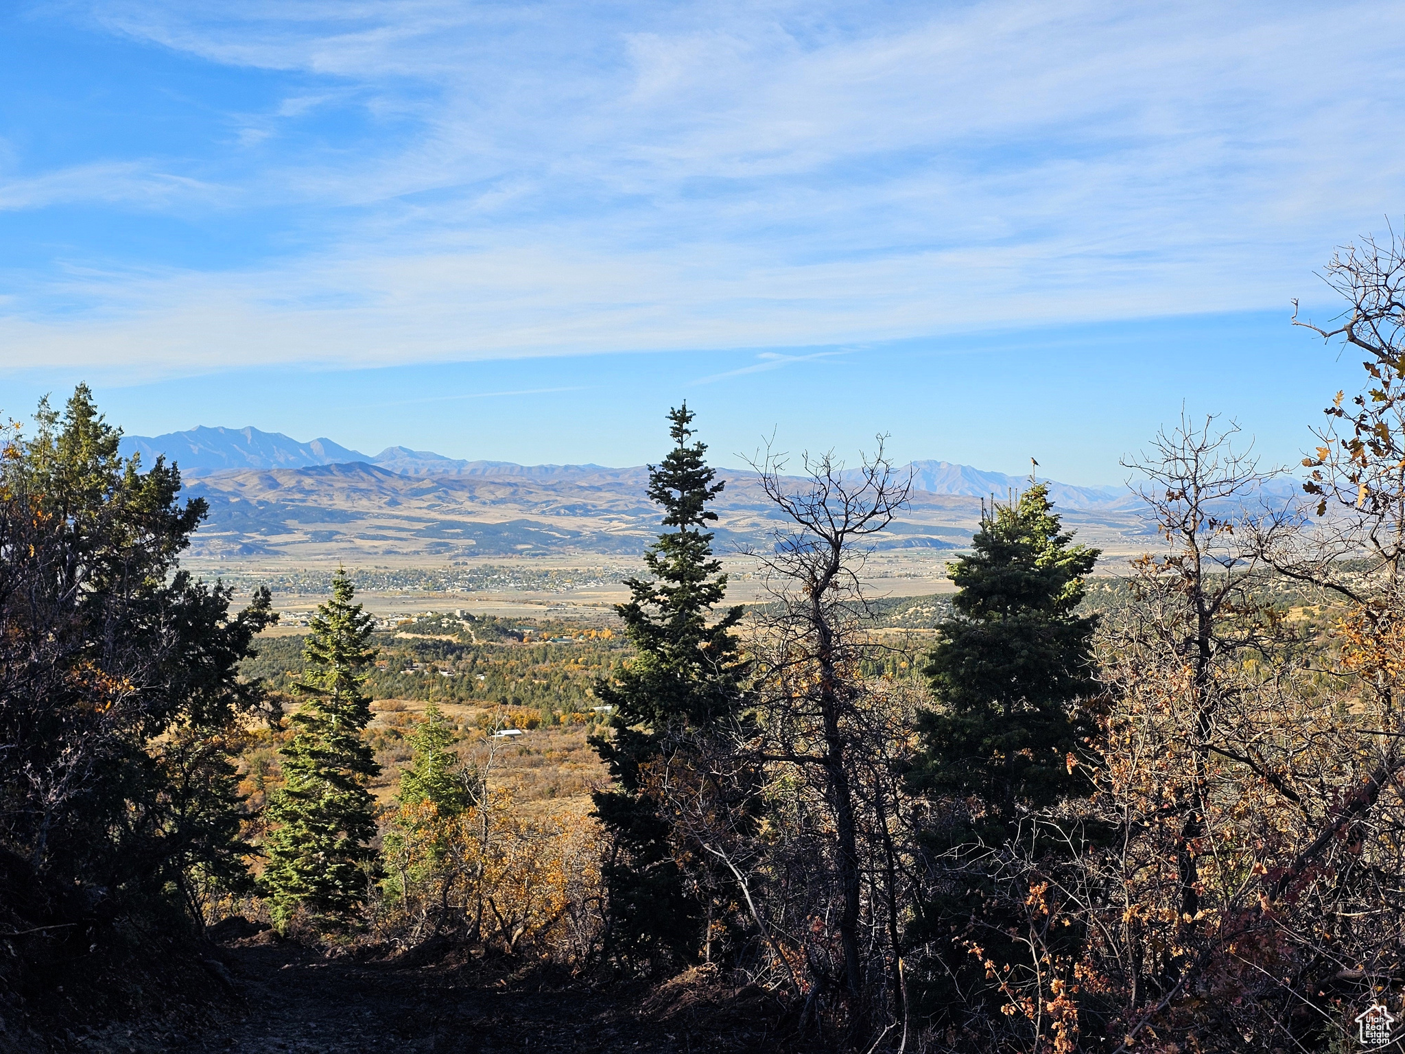
[[(948, 565), (957, 614), (939, 625), (924, 670), (939, 705), (919, 717), (923, 750), (912, 781), (950, 808), (937, 811), (927, 831), (930, 859), (941, 863), (908, 933), (909, 944), (927, 946), (940, 960), (915, 978), (939, 1020), (978, 1006), (981, 992), (989, 1013), (1002, 1005), (996, 982), (971, 954), (981, 947), (996, 963), (1027, 954), (1010, 936), (1024, 919), (1027, 891), (1007, 888), (999, 876), (1002, 846), (1016, 836), (1021, 812), (1087, 790), (1069, 756), (1093, 731), (1076, 703), (1097, 687), (1096, 617), (1076, 609), (1099, 551), (1072, 540), (1048, 488), (1035, 483), (1019, 502), (984, 512), (974, 552)], [(1051, 849), (1023, 839), (1020, 852), (1038, 859)], [(1055, 937), (1072, 946), (1082, 935), (1061, 930), (1051, 944)]]

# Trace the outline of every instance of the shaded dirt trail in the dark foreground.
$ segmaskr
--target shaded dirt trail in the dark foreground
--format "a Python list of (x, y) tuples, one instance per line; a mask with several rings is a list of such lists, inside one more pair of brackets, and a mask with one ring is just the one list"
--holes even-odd
[[(688, 984), (590, 985), (513, 963), (413, 965), (326, 960), (291, 943), (228, 949), (235, 998), (223, 1024), (178, 1047), (185, 1054), (353, 1054), (355, 1051), (579, 1051), (711, 1054), (776, 1050), (763, 1001), (718, 1003)], [(660, 991), (663, 998), (660, 999)], [(648, 998), (645, 998), (648, 995)]]

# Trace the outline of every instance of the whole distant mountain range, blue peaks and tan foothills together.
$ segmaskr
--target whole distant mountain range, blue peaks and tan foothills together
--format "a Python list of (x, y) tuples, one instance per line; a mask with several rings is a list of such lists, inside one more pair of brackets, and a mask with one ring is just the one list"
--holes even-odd
[[(212, 559), (367, 562), (563, 552), (636, 554), (659, 527), (645, 496), (648, 468), (465, 461), (407, 447), (367, 455), (329, 438), (299, 443), (257, 429), (198, 427), (122, 438), (145, 464), (164, 455), (209, 516), (192, 555)], [(981, 499), (1028, 479), (946, 461), (916, 461), (912, 495), (878, 548), (950, 549), (969, 542)], [(752, 471), (719, 469), (715, 503), (724, 549), (771, 544), (785, 528)], [(797, 481), (799, 485), (801, 481)], [(1141, 545), (1144, 526), (1125, 488), (1050, 483), (1082, 540)]]

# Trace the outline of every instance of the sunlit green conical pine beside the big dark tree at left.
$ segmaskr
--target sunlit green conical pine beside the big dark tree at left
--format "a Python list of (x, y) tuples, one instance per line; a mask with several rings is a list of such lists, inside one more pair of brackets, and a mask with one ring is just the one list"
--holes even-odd
[(365, 899), (374, 868), (375, 814), (365, 783), (379, 766), (361, 738), (371, 721), (361, 686), (375, 652), (371, 617), (353, 596), (339, 571), (332, 600), (312, 618), (306, 672), (295, 686), (308, 700), (291, 718), (294, 736), (280, 752), (285, 783), (267, 809), (275, 826), (261, 883), (280, 929), (299, 909), (319, 928), (344, 922)]

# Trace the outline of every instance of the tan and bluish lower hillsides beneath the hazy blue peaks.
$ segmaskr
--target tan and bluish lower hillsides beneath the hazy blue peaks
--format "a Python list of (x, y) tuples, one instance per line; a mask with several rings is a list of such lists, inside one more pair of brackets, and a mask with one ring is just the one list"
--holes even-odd
[[(722, 478), (719, 551), (771, 545), (787, 523), (756, 475)], [(197, 557), (452, 559), (642, 552), (659, 530), (646, 483), (642, 467), (412, 476), (361, 462), (221, 472), (191, 481), (188, 492), (211, 510), (197, 534)], [(915, 490), (877, 547), (964, 545), (979, 512), (979, 497)], [(1068, 509), (1066, 521), (1090, 540), (1139, 528), (1134, 513), (1113, 506)]]

